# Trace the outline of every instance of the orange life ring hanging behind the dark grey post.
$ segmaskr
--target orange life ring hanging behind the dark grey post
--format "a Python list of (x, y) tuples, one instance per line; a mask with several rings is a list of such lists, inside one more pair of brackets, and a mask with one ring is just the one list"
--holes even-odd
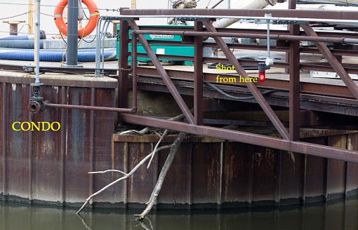
[[(93, 32), (93, 29), (95, 29), (95, 26), (97, 25), (97, 21), (100, 15), (98, 8), (93, 0), (81, 0), (81, 1), (87, 6), (88, 11), (90, 12), (90, 19), (88, 20), (88, 22), (84, 27), (78, 29), (77, 34), (80, 38), (83, 36), (87, 36), (88, 34), (91, 34), (91, 32)], [(63, 20), (63, 11), (67, 6), (67, 2), (68, 2), (67, 0), (60, 0), (55, 7), (56, 27), (58, 27), (60, 32), (65, 35), (67, 35), (67, 25)]]

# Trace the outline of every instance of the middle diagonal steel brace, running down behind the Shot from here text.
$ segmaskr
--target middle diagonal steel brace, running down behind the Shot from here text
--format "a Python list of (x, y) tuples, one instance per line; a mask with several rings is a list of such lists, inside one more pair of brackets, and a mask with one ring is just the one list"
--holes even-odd
[[(215, 27), (213, 27), (213, 24), (211, 22), (203, 22), (208, 32), (217, 32)], [(234, 56), (234, 54), (231, 52), (230, 48), (225, 43), (224, 39), (221, 37), (213, 37), (213, 39), (218, 43), (218, 46), (223, 50), (225, 53), (227, 60), (231, 62), (232, 65), (234, 65), (237, 73), (244, 78), (248, 78), (248, 74), (244, 70), (244, 68), (241, 66), (240, 62), (237, 60), (237, 58)], [(260, 93), (260, 90), (255, 86), (254, 83), (248, 83), (247, 84), (248, 90), (252, 93), (253, 97), (255, 97), (258, 104), (260, 104), (260, 107), (263, 108), (263, 111), (265, 111), (265, 114), (268, 116), (270, 121), (273, 123), (274, 127), (279, 131), (279, 134), (282, 138), (289, 140), (289, 132), (286, 130), (284, 124), (279, 120), (279, 117), (274, 113), (270, 105), (265, 100), (265, 97)]]

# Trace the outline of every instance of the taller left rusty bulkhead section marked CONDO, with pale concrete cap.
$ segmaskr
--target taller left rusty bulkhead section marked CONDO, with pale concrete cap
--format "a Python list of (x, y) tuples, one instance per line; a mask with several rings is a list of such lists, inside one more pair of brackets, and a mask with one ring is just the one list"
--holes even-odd
[[(114, 113), (46, 109), (31, 114), (29, 83), (33, 81), (29, 74), (1, 72), (0, 197), (34, 203), (81, 202), (95, 189), (88, 171), (110, 161)], [(41, 96), (52, 103), (115, 105), (115, 79), (44, 74), (41, 82)], [(15, 132), (15, 121), (58, 121), (61, 129)]]

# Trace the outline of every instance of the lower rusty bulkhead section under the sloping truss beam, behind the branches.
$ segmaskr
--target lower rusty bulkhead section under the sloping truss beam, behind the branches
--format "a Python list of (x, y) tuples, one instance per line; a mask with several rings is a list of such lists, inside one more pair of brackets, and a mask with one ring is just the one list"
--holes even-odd
[[(358, 149), (358, 133), (305, 130), (301, 140)], [(175, 136), (164, 139), (173, 142)], [(154, 148), (156, 135), (114, 135), (113, 168), (128, 172)], [(147, 202), (168, 150), (116, 187), (125, 208)], [(157, 208), (233, 208), (326, 201), (357, 194), (358, 164), (276, 149), (189, 137), (180, 147)]]

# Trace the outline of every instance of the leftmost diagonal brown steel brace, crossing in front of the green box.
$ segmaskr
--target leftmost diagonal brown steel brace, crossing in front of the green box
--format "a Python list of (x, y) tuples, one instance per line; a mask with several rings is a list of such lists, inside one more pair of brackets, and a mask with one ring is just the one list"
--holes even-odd
[[(133, 29), (133, 31), (140, 30), (138, 25), (135, 23), (135, 21), (130, 20), (128, 21), (128, 23)], [(154, 54), (147, 39), (145, 39), (143, 34), (138, 34), (138, 39), (140, 43), (142, 43), (142, 46), (145, 49), (145, 52), (147, 53), (148, 57), (150, 57), (150, 59), (152, 60), (153, 65), (157, 68), (157, 71), (161, 75), (161, 78), (163, 79), (164, 83), (166, 83), (166, 87), (168, 87), (168, 90), (171, 92), (171, 95), (173, 95), (181, 111), (183, 111), (185, 118), (187, 119), (187, 121), (189, 121), (189, 123), (193, 124), (194, 116), (192, 115), (192, 112), (190, 111), (189, 107), (187, 107), (187, 104), (185, 104), (185, 101), (183, 100), (183, 97), (178, 92), (177, 88), (175, 88), (173, 81), (171, 81), (171, 79), (169, 78), (163, 65), (161, 65), (161, 63), (159, 62), (157, 55)]]

